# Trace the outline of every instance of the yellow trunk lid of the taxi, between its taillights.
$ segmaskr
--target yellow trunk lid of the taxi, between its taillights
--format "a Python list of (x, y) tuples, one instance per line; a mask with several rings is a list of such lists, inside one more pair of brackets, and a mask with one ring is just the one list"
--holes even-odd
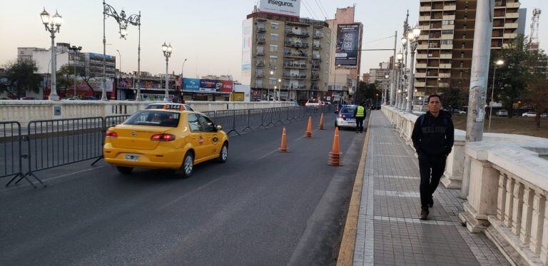
[(151, 140), (153, 135), (166, 133), (173, 128), (151, 127), (136, 125), (118, 125), (111, 128), (118, 134), (116, 138), (108, 138), (114, 148), (138, 148), (139, 150), (153, 150), (160, 144), (160, 141)]

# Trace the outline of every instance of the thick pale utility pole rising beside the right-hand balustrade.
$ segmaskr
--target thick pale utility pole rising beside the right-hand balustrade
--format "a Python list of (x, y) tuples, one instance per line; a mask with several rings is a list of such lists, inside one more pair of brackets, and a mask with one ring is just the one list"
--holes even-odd
[[(466, 143), (482, 141), (487, 77), (489, 76), (489, 56), (493, 29), (493, 0), (478, 0), (472, 50), (472, 70), (470, 71), (470, 97), (466, 124)], [(465, 171), (462, 176), (460, 195), (467, 198), (470, 187), (470, 157), (465, 155)]]

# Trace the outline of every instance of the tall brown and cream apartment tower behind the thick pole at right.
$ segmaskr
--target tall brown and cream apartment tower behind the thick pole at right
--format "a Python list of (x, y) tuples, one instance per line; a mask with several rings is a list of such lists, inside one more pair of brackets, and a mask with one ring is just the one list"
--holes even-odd
[[(415, 97), (470, 86), (476, 4), (475, 0), (420, 0)], [(492, 49), (507, 47), (516, 39), (519, 5), (519, 0), (495, 1)]]

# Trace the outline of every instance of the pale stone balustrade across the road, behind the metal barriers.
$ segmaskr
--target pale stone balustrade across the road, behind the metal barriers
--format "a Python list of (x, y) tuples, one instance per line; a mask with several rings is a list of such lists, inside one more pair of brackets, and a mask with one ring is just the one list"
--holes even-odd
[[(29, 121), (92, 116), (116, 116), (143, 110), (151, 101), (0, 101), (0, 121)], [(196, 111), (295, 106), (294, 102), (187, 101)]]

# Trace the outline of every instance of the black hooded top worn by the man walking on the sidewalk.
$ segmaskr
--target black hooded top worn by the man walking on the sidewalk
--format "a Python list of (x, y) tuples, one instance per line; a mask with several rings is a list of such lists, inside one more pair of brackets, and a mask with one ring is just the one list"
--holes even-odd
[(419, 116), (415, 121), (411, 139), (418, 154), (449, 155), (455, 140), (455, 128), (451, 120), (451, 113), (440, 110), (440, 114), (436, 118), (428, 111)]

